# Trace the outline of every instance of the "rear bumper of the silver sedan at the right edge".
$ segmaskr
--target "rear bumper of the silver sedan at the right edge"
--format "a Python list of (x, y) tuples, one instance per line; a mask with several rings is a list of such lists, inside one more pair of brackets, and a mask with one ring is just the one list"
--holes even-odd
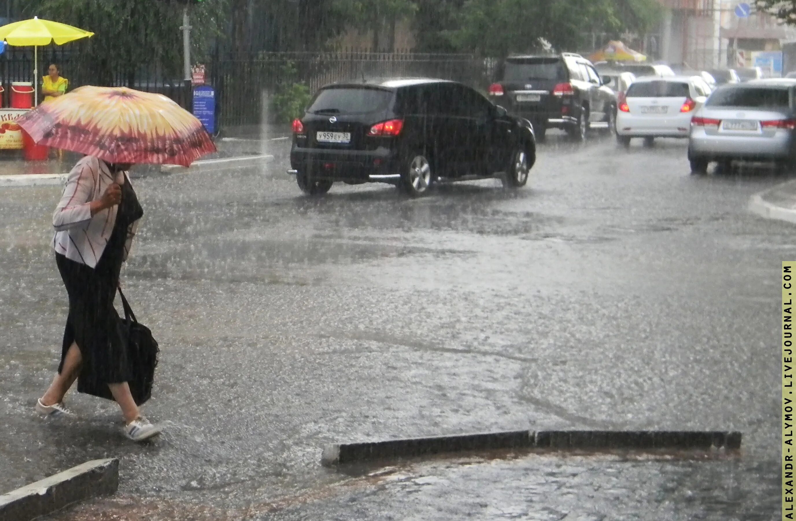
[(790, 131), (778, 131), (771, 137), (709, 135), (696, 127), (689, 136), (689, 158), (702, 159), (794, 159), (796, 142)]

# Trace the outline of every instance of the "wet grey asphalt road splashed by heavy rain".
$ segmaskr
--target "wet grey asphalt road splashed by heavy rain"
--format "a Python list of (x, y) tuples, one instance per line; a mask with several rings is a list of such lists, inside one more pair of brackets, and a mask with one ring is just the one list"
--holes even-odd
[[(258, 145), (259, 147), (259, 145)], [(284, 142), (263, 169), (134, 180), (123, 272), (161, 343), (133, 445), (111, 402), (33, 405), (66, 295), (48, 248), (57, 187), (0, 191), (0, 491), (119, 456), (120, 495), (52, 519), (771, 519), (778, 271), (792, 225), (747, 213), (790, 179), (689, 174), (685, 143), (550, 135), (529, 186), (387, 185), (302, 197)], [(708, 461), (504, 455), (378, 476), (322, 445), (493, 429), (727, 429)], [(138, 517), (136, 517), (138, 516)]]

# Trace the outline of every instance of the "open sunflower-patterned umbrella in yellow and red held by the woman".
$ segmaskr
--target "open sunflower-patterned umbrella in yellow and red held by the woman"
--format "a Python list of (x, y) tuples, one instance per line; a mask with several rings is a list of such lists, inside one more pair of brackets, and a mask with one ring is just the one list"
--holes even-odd
[(76, 88), (17, 118), (33, 141), (108, 163), (189, 166), (216, 146), (199, 119), (166, 96), (126, 87)]

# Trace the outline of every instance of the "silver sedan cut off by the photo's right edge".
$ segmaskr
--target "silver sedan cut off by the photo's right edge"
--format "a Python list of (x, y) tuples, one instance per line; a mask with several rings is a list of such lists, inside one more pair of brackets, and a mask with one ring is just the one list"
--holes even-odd
[(796, 80), (751, 80), (725, 85), (694, 113), (689, 161), (704, 174), (711, 161), (792, 162), (796, 158)]

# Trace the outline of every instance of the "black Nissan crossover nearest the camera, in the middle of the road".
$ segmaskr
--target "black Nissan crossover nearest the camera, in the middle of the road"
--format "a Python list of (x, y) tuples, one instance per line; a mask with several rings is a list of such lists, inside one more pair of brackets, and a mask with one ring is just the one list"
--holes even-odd
[(289, 174), (306, 194), (333, 182), (388, 182), (416, 196), (434, 182), (500, 177), (517, 188), (536, 160), (531, 124), (466, 85), (392, 78), (321, 88), (293, 122)]

